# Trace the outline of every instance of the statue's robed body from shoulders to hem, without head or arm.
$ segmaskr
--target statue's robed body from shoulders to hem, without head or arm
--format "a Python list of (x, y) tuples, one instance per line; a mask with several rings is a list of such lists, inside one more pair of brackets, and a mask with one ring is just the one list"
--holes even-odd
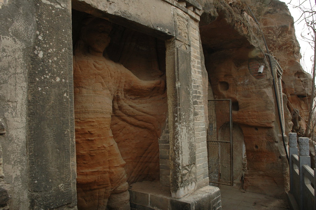
[[(74, 57), (77, 186), (104, 187), (109, 193), (111, 186), (126, 182), (125, 162), (110, 128), (112, 101), (122, 77), (119, 64), (104, 57)], [(125, 179), (111, 177), (109, 170)]]

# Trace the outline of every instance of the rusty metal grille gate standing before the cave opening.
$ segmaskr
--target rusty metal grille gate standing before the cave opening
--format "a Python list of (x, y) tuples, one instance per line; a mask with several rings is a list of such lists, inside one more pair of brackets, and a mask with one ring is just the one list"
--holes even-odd
[(233, 185), (231, 99), (208, 101), (207, 156), (210, 182)]

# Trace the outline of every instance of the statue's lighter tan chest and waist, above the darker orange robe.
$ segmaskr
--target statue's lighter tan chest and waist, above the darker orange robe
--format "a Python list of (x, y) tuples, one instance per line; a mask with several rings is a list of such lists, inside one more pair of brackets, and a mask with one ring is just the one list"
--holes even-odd
[(110, 120), (113, 96), (121, 77), (118, 64), (104, 57), (83, 55), (76, 56), (74, 62), (75, 115)]

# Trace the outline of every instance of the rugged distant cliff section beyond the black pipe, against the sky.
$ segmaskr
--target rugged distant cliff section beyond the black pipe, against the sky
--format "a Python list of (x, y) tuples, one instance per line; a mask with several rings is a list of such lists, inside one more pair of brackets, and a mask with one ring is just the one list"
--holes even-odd
[[(283, 93), (288, 99), (287, 108), (292, 115), (286, 117), (288, 130), (302, 136), (306, 129), (304, 121), (308, 118), (307, 101), (311, 96), (312, 78), (301, 67), (300, 45), (295, 37), (293, 18), (285, 3), (272, 1), (266, 10), (260, 22), (269, 49), (284, 71)], [(293, 127), (291, 127), (292, 122)]]

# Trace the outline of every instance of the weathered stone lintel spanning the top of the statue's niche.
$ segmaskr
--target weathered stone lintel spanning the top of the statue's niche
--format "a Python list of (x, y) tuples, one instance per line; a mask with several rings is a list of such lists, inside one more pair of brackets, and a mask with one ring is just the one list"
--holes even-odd
[(160, 39), (174, 37), (172, 6), (165, 1), (74, 0), (72, 8)]

